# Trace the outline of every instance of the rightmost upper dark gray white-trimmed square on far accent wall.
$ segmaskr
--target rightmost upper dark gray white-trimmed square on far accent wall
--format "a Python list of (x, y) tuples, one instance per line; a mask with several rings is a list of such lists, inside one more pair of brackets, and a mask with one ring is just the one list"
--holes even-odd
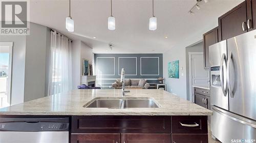
[(159, 57), (141, 57), (140, 75), (159, 75)]

